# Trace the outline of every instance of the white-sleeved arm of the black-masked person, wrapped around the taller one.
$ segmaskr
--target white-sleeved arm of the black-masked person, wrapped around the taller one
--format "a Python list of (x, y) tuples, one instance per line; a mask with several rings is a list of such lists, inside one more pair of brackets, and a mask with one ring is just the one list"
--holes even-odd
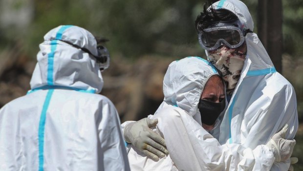
[(274, 156), (265, 145), (221, 146), (184, 110), (171, 106), (155, 115), (169, 154), (179, 171), (268, 171)]

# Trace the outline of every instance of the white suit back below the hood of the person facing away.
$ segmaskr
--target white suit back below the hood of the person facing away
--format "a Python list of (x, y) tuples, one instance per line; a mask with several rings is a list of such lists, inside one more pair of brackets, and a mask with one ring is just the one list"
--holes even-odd
[[(119, 119), (108, 98), (61, 89), (54, 90), (52, 97), (46, 98), (48, 91), (39, 90), (18, 98), (1, 110), (1, 171), (21, 168), (35, 171), (41, 164), (45, 171), (103, 171), (107, 164), (103, 162), (104, 156), (123, 157), (100, 148), (101, 142), (104, 147), (109, 147), (110, 140), (107, 133), (99, 132), (119, 129)], [(43, 126), (40, 121), (46, 101), (49, 102), (49, 110)], [(41, 137), (42, 132), (44, 138)], [(110, 137), (117, 140), (111, 143), (124, 145), (119, 141), (121, 135), (118, 133), (117, 130), (112, 131)], [(105, 139), (107, 142), (102, 141)], [(115, 148), (119, 150), (119, 144)]]

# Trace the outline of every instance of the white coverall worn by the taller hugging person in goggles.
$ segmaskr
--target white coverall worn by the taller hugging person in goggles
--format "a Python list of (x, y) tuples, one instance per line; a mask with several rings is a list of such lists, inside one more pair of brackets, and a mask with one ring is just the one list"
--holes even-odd
[[(243, 27), (254, 30), (248, 8), (240, 0), (220, 0), (213, 7), (232, 11)], [(266, 144), (286, 123), (289, 128), (285, 139), (292, 140), (298, 130), (294, 88), (276, 72), (256, 33), (247, 33), (245, 42), (246, 59), (220, 125), (219, 142), (236, 143), (254, 149)], [(275, 162), (271, 170), (287, 171), (289, 163), (289, 160)]]

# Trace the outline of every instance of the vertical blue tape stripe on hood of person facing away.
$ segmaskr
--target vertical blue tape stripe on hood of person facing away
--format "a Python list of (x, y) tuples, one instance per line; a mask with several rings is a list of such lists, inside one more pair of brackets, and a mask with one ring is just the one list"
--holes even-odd
[(63, 32), (72, 25), (63, 25), (56, 34), (56, 40), (50, 42), (50, 53), (47, 54), (47, 84), (54, 85), (54, 57), (57, 49), (57, 40), (62, 39)]

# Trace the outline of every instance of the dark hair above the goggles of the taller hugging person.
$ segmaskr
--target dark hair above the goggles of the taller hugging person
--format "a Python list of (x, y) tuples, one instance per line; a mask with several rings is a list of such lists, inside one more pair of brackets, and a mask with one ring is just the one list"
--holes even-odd
[(214, 6), (207, 10), (207, 4), (204, 4), (203, 12), (201, 12), (195, 20), (195, 29), (197, 32), (201, 32), (203, 29), (207, 28), (210, 24), (214, 22), (227, 22), (238, 20), (238, 17), (233, 12), (227, 9), (215, 9)]

